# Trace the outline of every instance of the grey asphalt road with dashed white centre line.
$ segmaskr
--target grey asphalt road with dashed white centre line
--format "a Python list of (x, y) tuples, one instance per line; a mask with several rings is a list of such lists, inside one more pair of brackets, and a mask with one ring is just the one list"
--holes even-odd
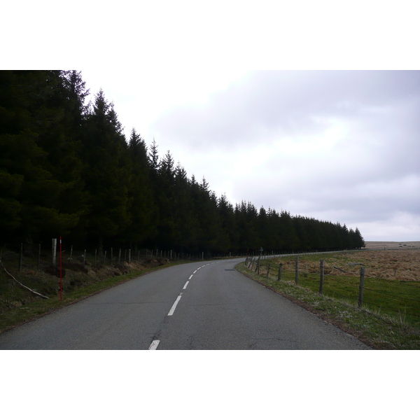
[(0, 335), (0, 349), (370, 349), (235, 270), (158, 270)]

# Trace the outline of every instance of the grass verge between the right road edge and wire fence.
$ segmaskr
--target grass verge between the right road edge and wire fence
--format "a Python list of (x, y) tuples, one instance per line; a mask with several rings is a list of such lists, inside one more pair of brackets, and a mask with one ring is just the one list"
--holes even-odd
[[(318, 256), (317, 259), (319, 262), (321, 258)], [(273, 260), (267, 263), (273, 264)], [(293, 273), (282, 275), (281, 281), (276, 280), (276, 273), (267, 277), (263, 269), (260, 269), (260, 275), (256, 274), (246, 267), (245, 262), (241, 262), (236, 268), (263, 286), (360, 339), (373, 349), (420, 349), (419, 328), (409, 325), (402, 315), (384, 314), (381, 309), (369, 306), (358, 308), (349, 295), (334, 297), (328, 295), (325, 288), (325, 294), (320, 295), (318, 289), (313, 290), (304, 284), (303, 279), (296, 285), (294, 267)]]

